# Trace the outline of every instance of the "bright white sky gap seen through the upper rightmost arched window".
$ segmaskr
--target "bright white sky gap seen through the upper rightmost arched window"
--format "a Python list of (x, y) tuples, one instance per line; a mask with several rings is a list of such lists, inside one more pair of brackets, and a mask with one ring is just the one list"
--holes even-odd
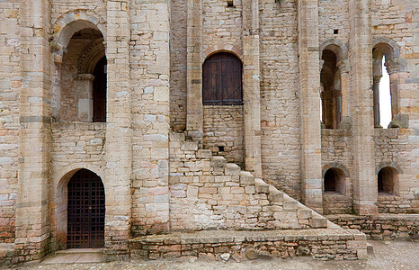
[(381, 59), (382, 76), (379, 80), (379, 125), (384, 129), (392, 119), (391, 115), (391, 94), (390, 94), (390, 76), (387, 68), (384, 66), (385, 57)]

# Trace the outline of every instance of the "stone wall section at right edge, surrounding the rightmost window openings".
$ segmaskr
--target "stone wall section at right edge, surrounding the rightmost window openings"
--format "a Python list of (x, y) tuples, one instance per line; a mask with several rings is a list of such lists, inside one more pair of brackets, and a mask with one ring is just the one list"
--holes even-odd
[(387, 69), (390, 81), (397, 83), (399, 111), (396, 113), (408, 114), (408, 129), (375, 131), (376, 166), (396, 164), (403, 170), (398, 174), (396, 196), (379, 198), (382, 212), (418, 212), (418, 11), (418, 5), (408, 1), (372, 1), (373, 39), (390, 39), (399, 49), (399, 65)]

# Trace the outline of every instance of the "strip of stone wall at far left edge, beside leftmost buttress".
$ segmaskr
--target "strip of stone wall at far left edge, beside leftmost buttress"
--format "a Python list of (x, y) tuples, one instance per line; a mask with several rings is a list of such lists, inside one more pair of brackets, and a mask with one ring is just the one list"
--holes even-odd
[(19, 7), (17, 0), (0, 3), (0, 243), (14, 240), (22, 84)]

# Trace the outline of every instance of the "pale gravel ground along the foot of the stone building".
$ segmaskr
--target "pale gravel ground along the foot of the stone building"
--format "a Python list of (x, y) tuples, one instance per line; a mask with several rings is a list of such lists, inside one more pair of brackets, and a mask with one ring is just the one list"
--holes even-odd
[(310, 257), (288, 259), (272, 258), (236, 263), (227, 261), (206, 261), (195, 258), (176, 258), (156, 261), (129, 261), (99, 264), (73, 265), (30, 265), (20, 266), (24, 270), (70, 270), (70, 269), (419, 269), (419, 242), (370, 241), (374, 255), (363, 261), (316, 261)]

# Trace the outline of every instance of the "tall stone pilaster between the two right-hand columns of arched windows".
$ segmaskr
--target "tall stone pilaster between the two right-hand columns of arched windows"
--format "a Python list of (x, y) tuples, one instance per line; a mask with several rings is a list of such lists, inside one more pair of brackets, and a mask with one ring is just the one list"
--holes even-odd
[(353, 207), (360, 215), (377, 214), (372, 109), (372, 40), (370, 0), (351, 0), (350, 51), (353, 138)]

